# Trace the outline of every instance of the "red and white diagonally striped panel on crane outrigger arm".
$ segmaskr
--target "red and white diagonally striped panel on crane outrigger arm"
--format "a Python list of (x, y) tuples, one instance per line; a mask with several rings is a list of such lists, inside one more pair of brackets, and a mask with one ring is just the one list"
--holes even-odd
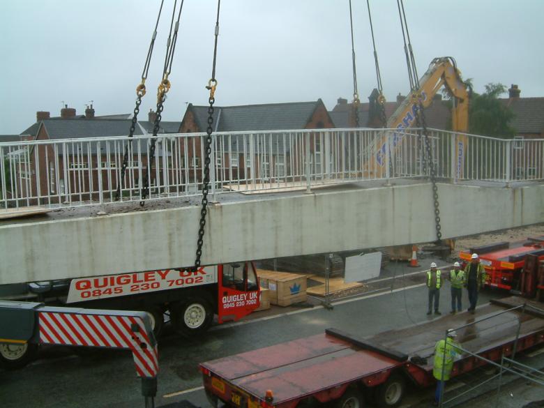
[[(40, 342), (48, 345), (71, 345), (130, 349), (139, 377), (156, 377), (158, 351), (139, 317), (80, 313), (38, 312)], [(137, 333), (131, 326), (139, 326)]]

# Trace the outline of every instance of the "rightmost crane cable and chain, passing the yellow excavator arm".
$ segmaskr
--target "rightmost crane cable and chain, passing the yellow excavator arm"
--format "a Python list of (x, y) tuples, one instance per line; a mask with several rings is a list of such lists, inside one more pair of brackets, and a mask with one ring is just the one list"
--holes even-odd
[[(438, 186), (436, 181), (435, 163), (432, 159), (431, 141), (430, 141), (430, 137), (428, 133), (427, 121), (425, 121), (425, 112), (423, 109), (423, 98), (419, 91), (420, 84), (419, 84), (417, 68), (416, 68), (416, 60), (414, 58), (414, 50), (411, 47), (410, 34), (408, 31), (408, 23), (406, 20), (405, 6), (404, 6), (403, 0), (397, 0), (397, 6), (398, 6), (398, 12), (400, 16), (400, 26), (402, 28), (402, 38), (404, 38), (404, 42), (405, 42), (405, 55), (406, 55), (406, 63), (407, 63), (408, 74), (409, 74), (408, 76), (409, 76), (410, 87), (411, 87), (412, 103), (414, 103), (414, 105), (418, 107), (418, 109), (414, 109), (416, 111), (416, 122), (418, 127), (420, 127), (423, 130), (423, 137), (425, 140), (426, 154), (423, 155), (423, 163), (425, 165), (425, 172), (428, 169), (430, 174), (430, 181), (432, 184), (433, 206), (435, 207), (435, 210), (434, 210), (435, 211), (435, 229), (436, 229), (436, 235), (437, 235), (437, 242), (440, 242), (442, 239), (442, 232), (441, 232), (441, 225), (440, 225), (439, 197), (438, 197)], [(406, 30), (406, 36), (405, 36), (405, 30)], [(408, 44), (406, 42), (406, 38), (408, 38)]]

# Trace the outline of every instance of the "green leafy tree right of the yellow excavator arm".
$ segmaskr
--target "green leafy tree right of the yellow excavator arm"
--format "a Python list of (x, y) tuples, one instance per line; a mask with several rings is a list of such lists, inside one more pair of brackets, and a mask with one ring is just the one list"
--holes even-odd
[(501, 103), (499, 96), (506, 92), (503, 84), (487, 84), (481, 95), (472, 93), (469, 102), (469, 133), (510, 138), (515, 135), (511, 126), (512, 110)]

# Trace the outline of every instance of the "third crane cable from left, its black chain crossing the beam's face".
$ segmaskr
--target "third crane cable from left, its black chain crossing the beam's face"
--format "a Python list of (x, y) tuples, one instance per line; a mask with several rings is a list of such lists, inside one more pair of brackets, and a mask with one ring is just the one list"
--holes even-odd
[(210, 91), (208, 98), (208, 127), (206, 128), (206, 139), (204, 141), (204, 178), (202, 179), (202, 208), (200, 209), (200, 222), (197, 239), (197, 252), (194, 269), (200, 266), (200, 257), (202, 256), (202, 245), (204, 244), (204, 227), (206, 226), (206, 214), (208, 213), (208, 192), (210, 183), (210, 155), (211, 155), (211, 133), (213, 132), (213, 104), (216, 102), (216, 61), (217, 61), (217, 40), (219, 36), (219, 10), (221, 0), (217, 2), (217, 19), (215, 29), (215, 43), (213, 45), (213, 63), (211, 68), (211, 79), (208, 81), (206, 89)]

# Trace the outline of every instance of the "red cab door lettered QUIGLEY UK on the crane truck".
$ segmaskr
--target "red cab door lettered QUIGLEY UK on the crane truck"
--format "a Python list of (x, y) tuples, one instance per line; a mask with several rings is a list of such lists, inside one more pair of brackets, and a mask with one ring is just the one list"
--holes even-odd
[(218, 285), (219, 323), (241, 319), (259, 307), (259, 280), (252, 262), (218, 266)]

